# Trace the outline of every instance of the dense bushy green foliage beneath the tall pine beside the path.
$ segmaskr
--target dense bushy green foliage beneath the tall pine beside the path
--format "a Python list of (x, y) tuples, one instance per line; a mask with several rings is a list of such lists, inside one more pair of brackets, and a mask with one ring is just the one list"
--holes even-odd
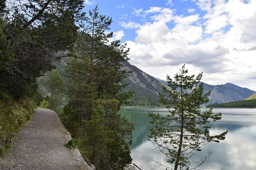
[(86, 157), (100, 170), (122, 170), (132, 161), (129, 145), (134, 124), (116, 114), (119, 105), (117, 100), (96, 101), (94, 114), (85, 122)]

